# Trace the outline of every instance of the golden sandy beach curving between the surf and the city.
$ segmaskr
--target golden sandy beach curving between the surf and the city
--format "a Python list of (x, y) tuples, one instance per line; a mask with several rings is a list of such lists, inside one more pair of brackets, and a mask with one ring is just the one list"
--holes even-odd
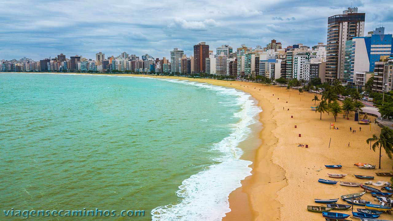
[[(360, 169), (353, 165), (364, 162), (377, 165), (378, 168), (378, 153), (370, 150), (365, 140), (372, 134), (379, 134), (381, 128), (375, 124), (371, 124), (370, 127), (354, 122), (353, 113), (350, 114), (349, 120), (343, 118), (343, 114), (339, 114), (337, 122), (334, 122), (332, 114), (327, 113), (322, 114), (320, 120), (320, 113), (310, 110), (310, 106), (316, 106), (312, 101), (315, 95), (313, 93), (304, 92), (299, 95), (297, 90), (287, 91), (285, 87), (241, 81), (148, 77), (176, 78), (233, 87), (250, 93), (259, 101), (258, 105), (263, 109), (260, 114), (263, 129), (259, 133), (262, 143), (254, 153), (251, 153), (254, 155), (253, 175), (243, 180), (242, 187), (231, 193), (229, 201), (232, 211), (223, 218), (224, 221), (286, 221), (299, 218), (306, 221), (325, 220), (319, 213), (308, 212), (307, 205), (322, 206), (323, 204), (314, 203), (314, 199), (339, 198), (343, 194), (362, 192), (362, 189), (339, 184), (322, 184), (318, 182), (319, 178), (367, 182), (368, 180), (360, 180), (353, 176), (360, 174), (375, 176), (374, 182), (389, 181), (390, 177), (375, 175), (375, 172), (391, 171), (392, 160), (383, 150), (382, 169)], [(373, 120), (371, 117), (372, 122)], [(339, 129), (331, 129), (331, 123), (335, 123)], [(350, 127), (355, 129), (356, 133), (350, 132)], [(359, 127), (362, 127), (361, 131)], [(298, 144), (307, 144), (309, 148), (298, 147)], [(342, 164), (343, 168), (326, 169), (324, 164)], [(329, 178), (327, 173), (344, 173), (347, 176), (333, 179)], [(362, 198), (377, 204), (370, 193), (366, 193)], [(347, 204), (341, 199), (338, 203)], [(342, 212), (351, 214), (350, 210)], [(392, 219), (392, 216), (382, 214), (380, 219)]]

